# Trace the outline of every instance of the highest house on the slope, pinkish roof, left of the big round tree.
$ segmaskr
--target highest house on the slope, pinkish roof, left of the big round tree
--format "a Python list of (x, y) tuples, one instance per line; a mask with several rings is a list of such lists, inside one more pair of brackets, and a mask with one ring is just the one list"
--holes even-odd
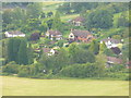
[(78, 16), (70, 21), (74, 26), (83, 26), (83, 23), (85, 22), (85, 19), (82, 16)]

